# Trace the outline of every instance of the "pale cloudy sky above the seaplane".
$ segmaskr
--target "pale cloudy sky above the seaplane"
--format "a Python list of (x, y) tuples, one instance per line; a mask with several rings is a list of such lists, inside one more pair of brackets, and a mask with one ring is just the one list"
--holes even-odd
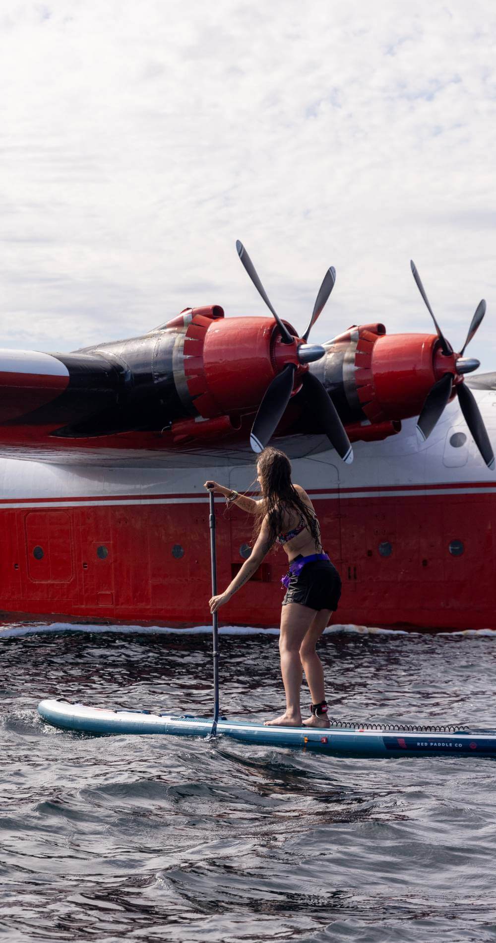
[(496, 6), (3, 0), (1, 345), (69, 351), (186, 306), (311, 340), (438, 322), (496, 370)]

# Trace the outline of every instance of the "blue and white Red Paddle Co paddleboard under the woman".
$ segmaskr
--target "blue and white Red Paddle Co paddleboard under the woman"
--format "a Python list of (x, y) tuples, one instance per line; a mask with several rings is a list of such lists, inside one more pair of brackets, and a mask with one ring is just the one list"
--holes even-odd
[[(85, 734), (168, 734), (208, 736), (212, 721), (186, 714), (159, 714), (146, 710), (87, 707), (63, 700), (41, 701), (38, 712), (43, 720), (62, 730)], [(226, 720), (217, 724), (217, 733), (244, 743), (289, 747), (319, 753), (364, 756), (425, 756), (460, 754), (496, 756), (496, 730), (459, 729), (440, 725), (402, 728), (389, 724), (351, 722), (331, 727), (265, 727), (248, 720)]]

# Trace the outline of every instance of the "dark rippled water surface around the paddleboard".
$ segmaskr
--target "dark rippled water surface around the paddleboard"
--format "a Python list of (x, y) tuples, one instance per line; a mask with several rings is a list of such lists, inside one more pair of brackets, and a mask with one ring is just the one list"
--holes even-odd
[[(6, 629), (9, 943), (496, 938), (493, 761), (62, 733), (42, 697), (208, 713), (211, 638)], [(274, 716), (277, 638), (224, 635), (221, 651), (223, 713)], [(326, 635), (331, 712), (496, 727), (495, 653), (488, 636)]]

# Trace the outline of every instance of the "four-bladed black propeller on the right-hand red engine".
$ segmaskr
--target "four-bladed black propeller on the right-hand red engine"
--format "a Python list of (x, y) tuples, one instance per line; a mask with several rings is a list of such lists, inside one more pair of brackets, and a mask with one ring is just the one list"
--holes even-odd
[(471, 339), (476, 334), (482, 319), (486, 314), (486, 302), (484, 299), (479, 302), (473, 318), (471, 319), (471, 326), (469, 327), (467, 339), (465, 340), (460, 354), (455, 355), (453, 347), (442, 334), (438, 322), (436, 321), (432, 307), (429, 305), (427, 295), (425, 294), (421, 276), (417, 272), (414, 262), (410, 261), (410, 265), (413, 277), (417, 283), (417, 288), (422, 294), (425, 306), (427, 307), (427, 310), (429, 311), (429, 314), (431, 315), (438, 332), (441, 351), (444, 356), (450, 358), (450, 363), (449, 365), (447, 364), (446, 372), (440, 378), (440, 380), (434, 384), (427, 395), (427, 399), (422, 406), (421, 415), (419, 416), (419, 420), (417, 422), (417, 429), (423, 440), (430, 436), (434, 426), (438, 422), (438, 419), (444, 410), (444, 407), (449, 403), (453, 388), (455, 387), (455, 392), (460, 403), (460, 409), (463, 413), (465, 422), (467, 422), (467, 425), (471, 431), (471, 437), (473, 438), (480, 454), (486, 462), (488, 469), (490, 469), (492, 472), (495, 467), (495, 462), (491, 444), (488, 438), (488, 433), (486, 431), (486, 426), (484, 425), (479, 407), (473, 394), (471, 393), (471, 390), (466, 387), (465, 383), (463, 382), (463, 375), (465, 373), (471, 373), (473, 370), (477, 370), (477, 368), (480, 367), (479, 360), (476, 360), (474, 357), (464, 357), (463, 355), (465, 353), (466, 347), (470, 344)]

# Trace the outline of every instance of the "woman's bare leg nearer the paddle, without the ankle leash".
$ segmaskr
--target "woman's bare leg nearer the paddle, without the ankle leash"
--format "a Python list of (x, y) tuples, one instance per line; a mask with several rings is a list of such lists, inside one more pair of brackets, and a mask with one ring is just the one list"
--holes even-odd
[(279, 652), (281, 653), (281, 674), (286, 691), (286, 711), (274, 720), (266, 720), (265, 724), (268, 727), (301, 726), (300, 688), (303, 671), (300, 647), (316, 615), (315, 609), (309, 609), (306, 605), (299, 603), (288, 603), (282, 607)]

